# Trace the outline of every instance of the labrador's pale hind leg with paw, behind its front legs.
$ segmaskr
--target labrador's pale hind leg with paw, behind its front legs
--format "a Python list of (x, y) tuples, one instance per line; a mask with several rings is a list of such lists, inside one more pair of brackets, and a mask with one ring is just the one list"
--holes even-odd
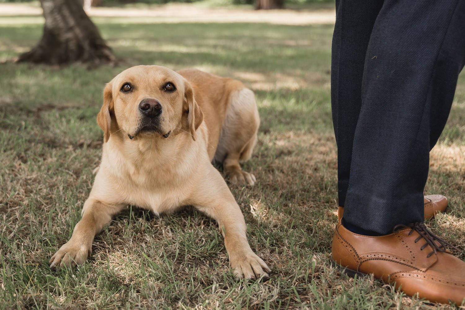
[(253, 92), (247, 88), (234, 91), (214, 157), (215, 161), (223, 164), (232, 184), (254, 185), (256, 182), (255, 176), (243, 171), (239, 162), (252, 156), (259, 125), (260, 117)]

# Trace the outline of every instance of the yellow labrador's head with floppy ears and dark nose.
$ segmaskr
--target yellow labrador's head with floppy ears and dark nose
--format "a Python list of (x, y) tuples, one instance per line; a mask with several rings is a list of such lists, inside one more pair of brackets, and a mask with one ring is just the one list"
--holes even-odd
[(117, 131), (130, 139), (166, 139), (186, 131), (195, 140), (202, 120), (193, 87), (162, 66), (134, 66), (118, 74), (106, 84), (97, 116), (105, 142)]

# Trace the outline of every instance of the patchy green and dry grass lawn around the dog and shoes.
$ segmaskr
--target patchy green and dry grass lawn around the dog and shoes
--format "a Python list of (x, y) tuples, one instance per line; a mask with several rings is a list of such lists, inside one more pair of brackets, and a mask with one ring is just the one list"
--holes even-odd
[[(333, 25), (152, 19), (94, 18), (121, 59), (114, 68), (0, 64), (0, 309), (452, 309), (331, 267), (337, 207)], [(28, 50), (42, 33), (40, 17), (0, 21), (0, 60)], [(216, 223), (190, 207), (157, 217), (130, 206), (95, 238), (86, 264), (48, 267), (79, 221), (99, 165), (103, 133), (96, 115), (103, 86), (139, 64), (197, 67), (241, 79), (255, 91), (261, 127), (245, 166), (258, 183), (232, 191), (252, 249), (273, 270), (265, 283), (234, 279)], [(462, 74), (426, 188), (450, 199), (448, 213), (427, 224), (461, 247), (461, 259), (464, 112)]]

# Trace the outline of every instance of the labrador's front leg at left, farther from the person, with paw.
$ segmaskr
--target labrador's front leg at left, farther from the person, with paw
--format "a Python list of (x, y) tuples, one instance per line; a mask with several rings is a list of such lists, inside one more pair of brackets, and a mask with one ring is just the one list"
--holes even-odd
[(82, 264), (92, 253), (92, 241), (103, 226), (110, 223), (113, 215), (120, 212), (124, 205), (105, 204), (89, 198), (82, 209), (82, 218), (74, 227), (73, 235), (50, 258), (50, 267)]

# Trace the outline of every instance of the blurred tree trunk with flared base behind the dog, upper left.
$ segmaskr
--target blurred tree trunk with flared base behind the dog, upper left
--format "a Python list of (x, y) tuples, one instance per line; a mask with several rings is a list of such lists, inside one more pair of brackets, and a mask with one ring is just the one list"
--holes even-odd
[(84, 12), (80, 0), (40, 0), (44, 33), (37, 46), (21, 54), (17, 62), (61, 65), (82, 62), (97, 65), (115, 62), (110, 47)]

